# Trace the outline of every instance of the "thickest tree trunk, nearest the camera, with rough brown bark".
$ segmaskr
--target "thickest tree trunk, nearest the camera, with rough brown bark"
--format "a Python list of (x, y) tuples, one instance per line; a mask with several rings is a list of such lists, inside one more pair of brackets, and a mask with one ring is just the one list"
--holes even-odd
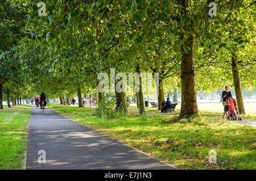
[[(183, 14), (187, 16), (188, 1), (181, 0), (183, 6)], [(192, 25), (184, 25), (184, 28), (193, 29)], [(195, 60), (193, 56), (193, 36), (181, 35), (184, 46), (181, 47), (181, 110), (180, 117), (198, 115), (196, 102), (196, 80), (195, 80)], [(185, 37), (187, 36), (187, 37)], [(184, 50), (186, 49), (186, 51)], [(189, 48), (189, 49), (188, 49)], [(187, 52), (187, 53), (186, 53)]]

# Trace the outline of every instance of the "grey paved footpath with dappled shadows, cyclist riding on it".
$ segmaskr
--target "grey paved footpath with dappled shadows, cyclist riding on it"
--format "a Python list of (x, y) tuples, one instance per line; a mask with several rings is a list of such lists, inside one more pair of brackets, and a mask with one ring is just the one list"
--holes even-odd
[[(39, 150), (46, 163), (39, 163)], [(32, 107), (26, 169), (176, 169), (72, 121)]]

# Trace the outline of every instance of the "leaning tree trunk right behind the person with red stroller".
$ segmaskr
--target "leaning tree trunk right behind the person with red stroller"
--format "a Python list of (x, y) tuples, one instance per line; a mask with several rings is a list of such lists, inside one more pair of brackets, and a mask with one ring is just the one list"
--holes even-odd
[(236, 52), (232, 52), (232, 72), (233, 72), (234, 89), (236, 92), (238, 111), (241, 114), (245, 114), (245, 106), (243, 104), (243, 95), (242, 95), (240, 75), (239, 75), (239, 70), (237, 65)]

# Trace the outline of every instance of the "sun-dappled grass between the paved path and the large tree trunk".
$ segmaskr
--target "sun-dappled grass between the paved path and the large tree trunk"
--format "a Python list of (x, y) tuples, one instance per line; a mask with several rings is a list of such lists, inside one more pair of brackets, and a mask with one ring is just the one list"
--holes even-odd
[[(256, 128), (208, 119), (212, 115), (204, 110), (199, 121), (182, 123), (133, 112), (125, 118), (100, 119), (89, 107), (52, 104), (48, 108), (180, 169), (256, 169)], [(217, 164), (209, 164), (209, 150), (216, 150)]]

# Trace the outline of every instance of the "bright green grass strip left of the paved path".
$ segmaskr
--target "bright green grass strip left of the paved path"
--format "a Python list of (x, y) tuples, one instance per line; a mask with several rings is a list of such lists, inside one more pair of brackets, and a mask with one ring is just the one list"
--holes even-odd
[(0, 110), (0, 170), (22, 169), (31, 106)]

